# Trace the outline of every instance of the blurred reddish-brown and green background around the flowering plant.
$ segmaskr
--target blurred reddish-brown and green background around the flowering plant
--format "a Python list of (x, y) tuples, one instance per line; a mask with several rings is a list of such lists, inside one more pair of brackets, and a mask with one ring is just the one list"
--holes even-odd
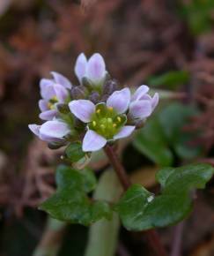
[[(133, 143), (119, 147), (133, 181), (156, 192), (158, 167), (214, 164), (213, 25), (213, 0), (0, 1), (1, 256), (152, 255), (144, 237), (124, 229), (110, 241), (116, 220), (116, 230), (102, 222), (89, 231), (37, 209), (55, 190), (60, 152), (33, 139), (27, 124), (40, 122), (42, 77), (62, 72), (75, 84), (77, 55), (100, 52), (122, 85), (148, 84), (163, 99)], [(91, 167), (100, 177), (107, 160), (96, 154)], [(197, 194), (182, 226), (182, 255), (214, 255), (212, 187), (213, 181)], [(160, 232), (170, 248), (174, 228)], [(87, 247), (94, 234), (96, 245)], [(106, 245), (99, 248), (101, 241)]]

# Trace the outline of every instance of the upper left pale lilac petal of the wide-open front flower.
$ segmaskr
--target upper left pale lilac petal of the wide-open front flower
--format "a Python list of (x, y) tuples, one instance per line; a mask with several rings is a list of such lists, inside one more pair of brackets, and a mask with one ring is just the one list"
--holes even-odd
[(95, 111), (95, 105), (88, 100), (77, 100), (69, 103), (71, 113), (84, 123), (89, 123), (92, 113)]

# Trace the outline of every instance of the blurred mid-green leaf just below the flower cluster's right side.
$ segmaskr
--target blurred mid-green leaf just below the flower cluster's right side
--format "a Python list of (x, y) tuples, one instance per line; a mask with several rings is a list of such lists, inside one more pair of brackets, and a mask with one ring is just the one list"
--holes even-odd
[(134, 147), (160, 166), (168, 166), (173, 162), (173, 154), (159, 120), (153, 118), (141, 129), (133, 141)]

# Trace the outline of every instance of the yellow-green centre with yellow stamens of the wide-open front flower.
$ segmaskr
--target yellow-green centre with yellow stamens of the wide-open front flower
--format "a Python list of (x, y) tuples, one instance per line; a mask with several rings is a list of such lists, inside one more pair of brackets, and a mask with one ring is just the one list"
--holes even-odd
[(106, 139), (113, 139), (126, 122), (126, 115), (118, 115), (113, 108), (107, 107), (105, 103), (100, 103), (96, 105), (95, 113), (92, 114), (92, 121), (88, 126)]

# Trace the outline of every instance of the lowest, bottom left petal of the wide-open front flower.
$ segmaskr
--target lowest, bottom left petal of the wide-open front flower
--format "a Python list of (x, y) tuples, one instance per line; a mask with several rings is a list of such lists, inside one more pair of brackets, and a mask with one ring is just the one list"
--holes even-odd
[(83, 140), (83, 151), (84, 152), (97, 151), (100, 148), (104, 147), (106, 144), (107, 144), (107, 139), (100, 136), (97, 132), (88, 130), (85, 133), (85, 137)]

